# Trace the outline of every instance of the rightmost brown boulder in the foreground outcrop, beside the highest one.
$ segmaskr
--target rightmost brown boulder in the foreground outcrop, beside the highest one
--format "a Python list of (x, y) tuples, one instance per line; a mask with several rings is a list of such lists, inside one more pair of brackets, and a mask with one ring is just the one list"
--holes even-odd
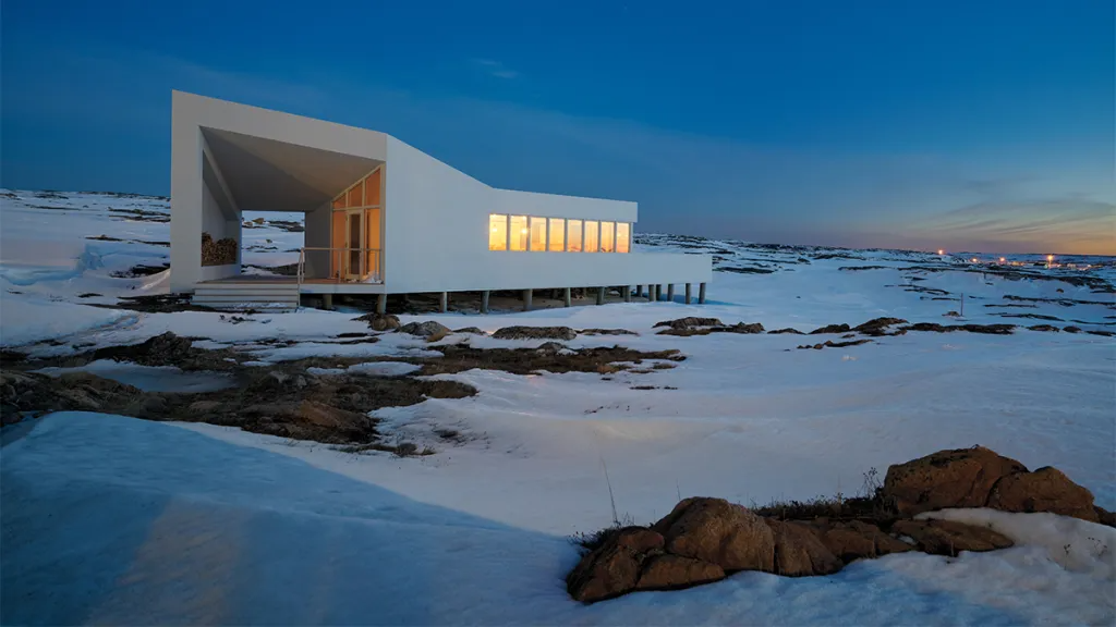
[(995, 483), (988, 507), (1006, 512), (1052, 512), (1097, 522), (1093, 493), (1058, 469), (1010, 474)]

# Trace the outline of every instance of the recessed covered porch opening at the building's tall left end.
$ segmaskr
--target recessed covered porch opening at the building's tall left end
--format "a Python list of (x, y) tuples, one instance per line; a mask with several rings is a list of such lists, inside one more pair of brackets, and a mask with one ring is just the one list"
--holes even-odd
[[(201, 127), (202, 281), (249, 279), (263, 254), (242, 237), (246, 212), (302, 215), (300, 242), (264, 257), (289, 261), (276, 282), (383, 283), (384, 162)], [(211, 215), (212, 214), (212, 215)], [(289, 220), (285, 216), (283, 220)], [(268, 218), (270, 221), (270, 218)], [(278, 255), (289, 250), (289, 257)], [(278, 268), (276, 269), (278, 271)]]

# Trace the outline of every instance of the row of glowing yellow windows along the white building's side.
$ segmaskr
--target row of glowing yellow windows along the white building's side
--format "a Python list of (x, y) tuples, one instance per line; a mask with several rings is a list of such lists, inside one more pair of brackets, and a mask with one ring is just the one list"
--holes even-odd
[(628, 252), (631, 247), (632, 225), (627, 222), (489, 215), (489, 250)]

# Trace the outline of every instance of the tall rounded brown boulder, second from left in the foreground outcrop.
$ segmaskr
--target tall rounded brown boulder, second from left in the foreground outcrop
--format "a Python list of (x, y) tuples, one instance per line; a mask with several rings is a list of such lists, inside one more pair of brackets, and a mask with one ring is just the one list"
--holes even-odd
[(724, 499), (684, 499), (652, 529), (663, 534), (668, 553), (715, 563), (728, 572), (775, 569), (771, 528)]

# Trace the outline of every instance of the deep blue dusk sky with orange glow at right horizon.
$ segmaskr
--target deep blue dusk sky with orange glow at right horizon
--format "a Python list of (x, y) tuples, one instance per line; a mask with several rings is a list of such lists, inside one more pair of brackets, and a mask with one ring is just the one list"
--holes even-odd
[(166, 194), (177, 88), (641, 231), (1116, 253), (1112, 0), (4, 0), (0, 185)]

